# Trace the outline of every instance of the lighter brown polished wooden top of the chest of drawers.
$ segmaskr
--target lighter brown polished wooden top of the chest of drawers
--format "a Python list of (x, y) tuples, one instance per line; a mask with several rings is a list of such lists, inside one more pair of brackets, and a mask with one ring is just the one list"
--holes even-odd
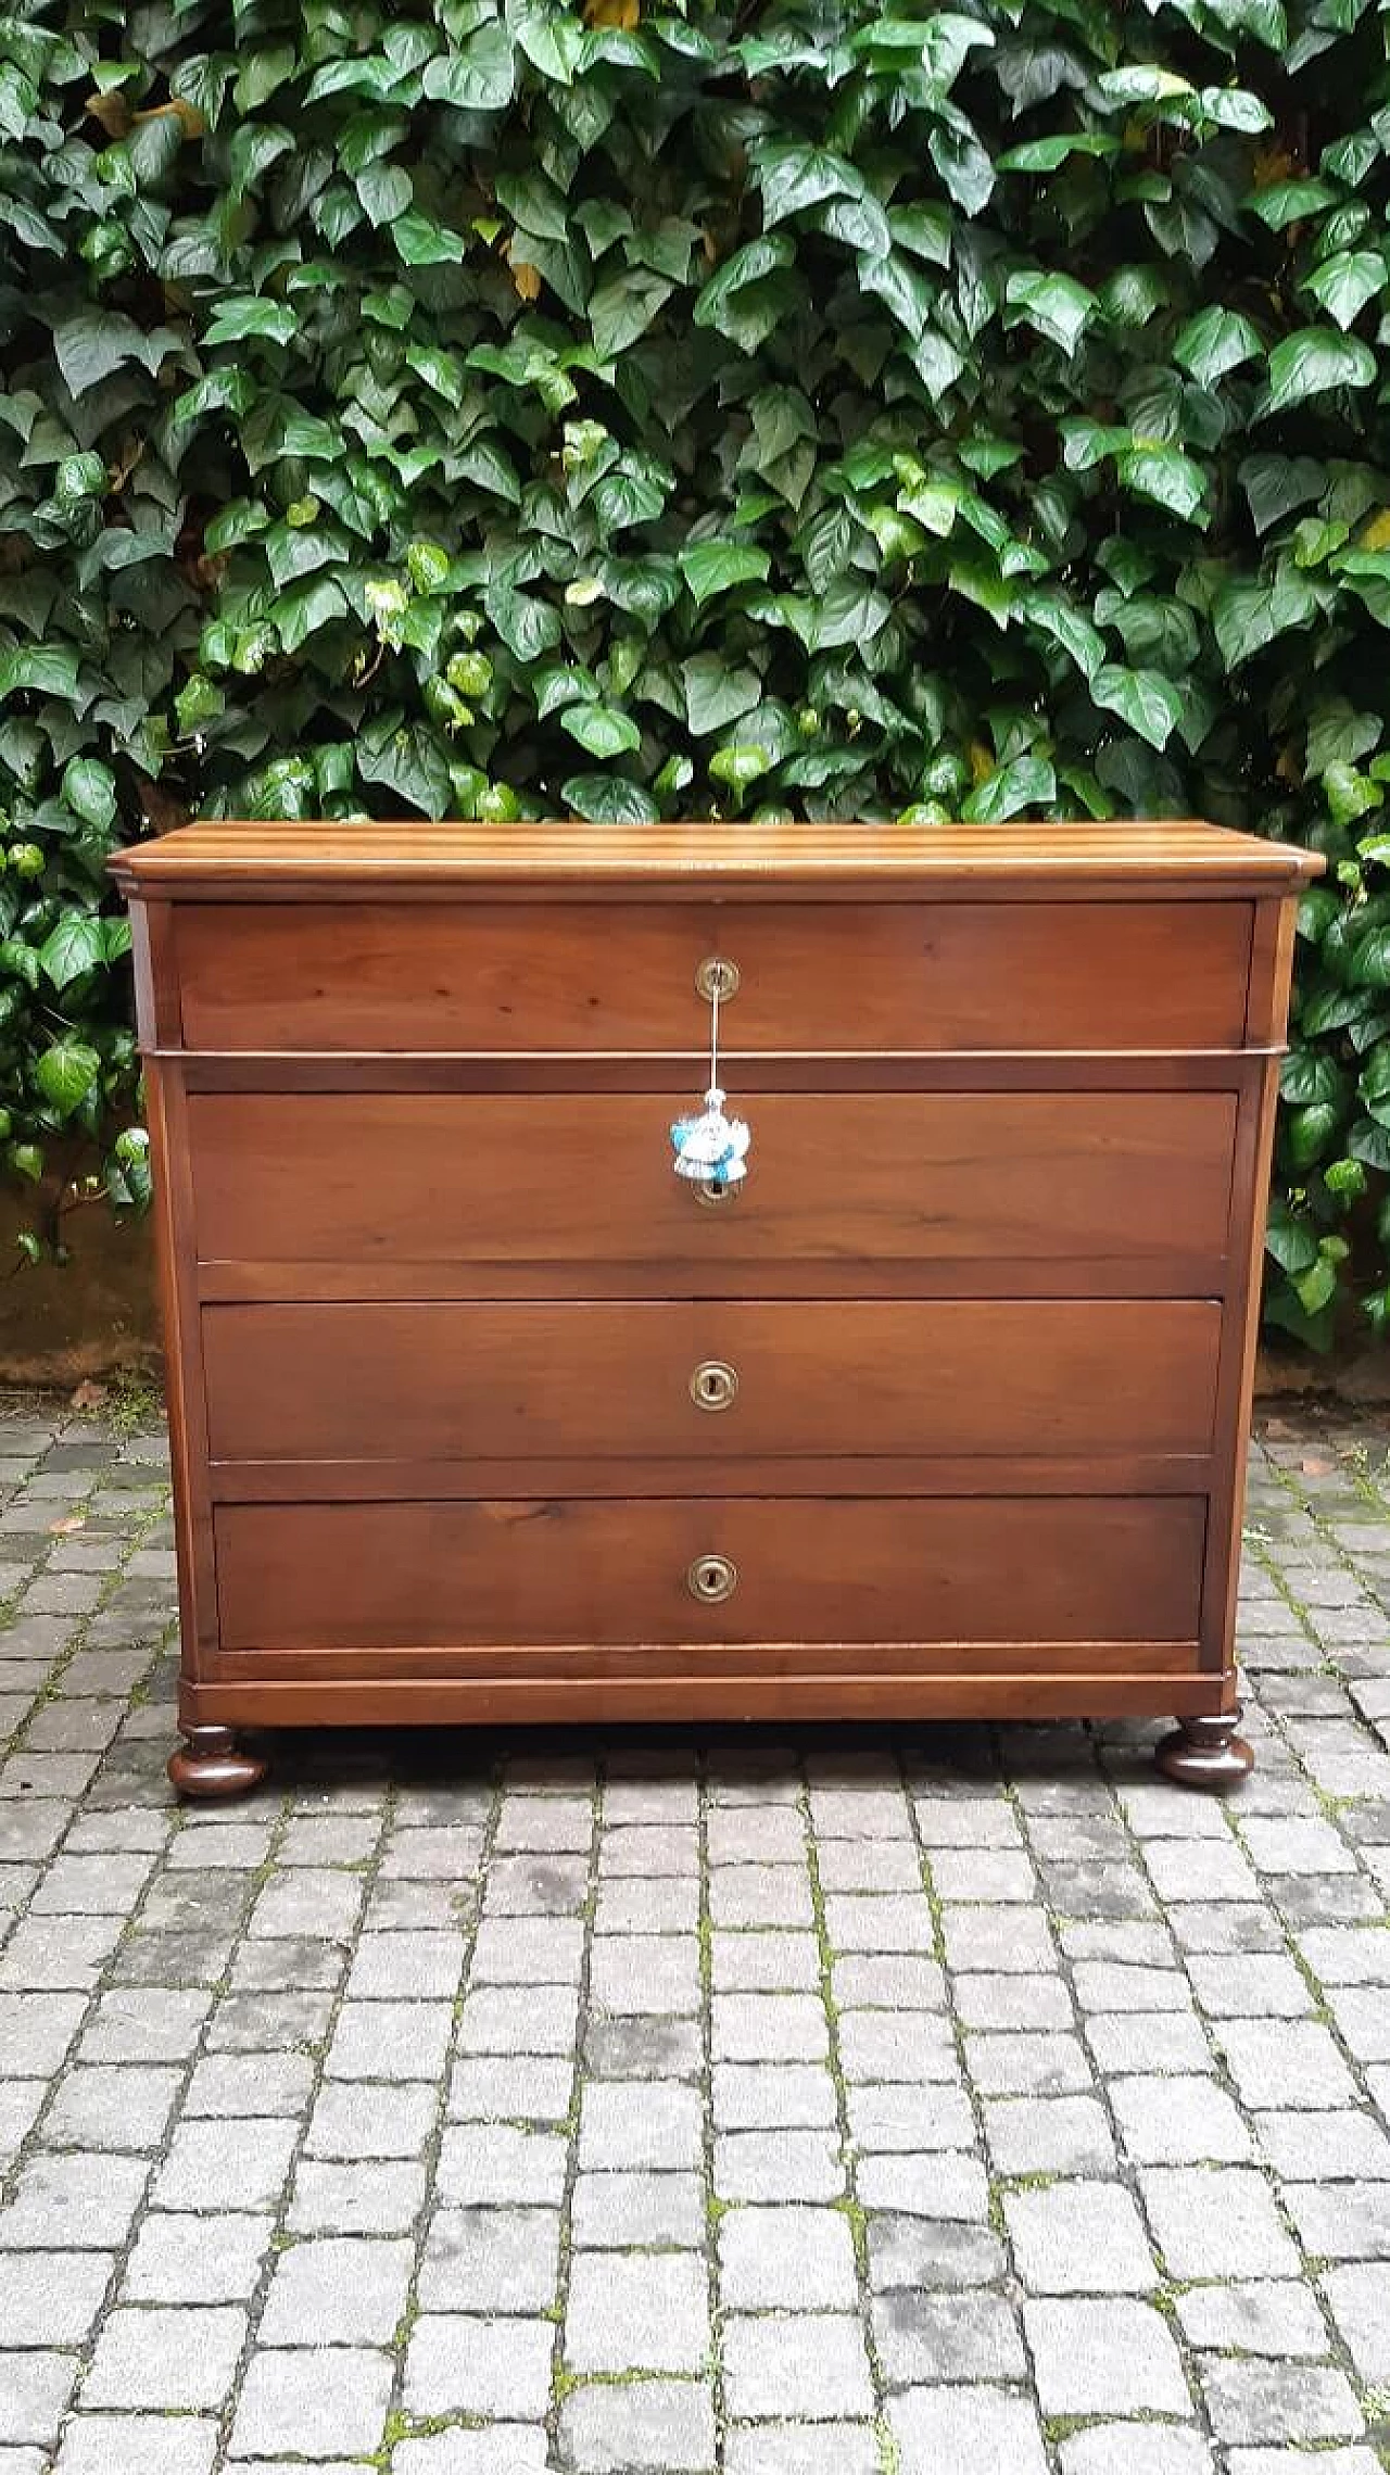
[(1054, 886), (1162, 884), (1294, 891), (1323, 859), (1294, 844), (1195, 822), (1115, 824), (185, 824), (111, 859), (134, 893), (245, 893), (289, 886), (777, 886), (903, 891), (950, 881), (1046, 893)]

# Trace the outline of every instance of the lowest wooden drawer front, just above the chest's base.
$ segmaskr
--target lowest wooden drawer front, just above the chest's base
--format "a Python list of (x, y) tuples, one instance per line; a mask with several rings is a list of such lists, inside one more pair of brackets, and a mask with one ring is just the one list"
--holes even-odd
[(1185, 1495), (220, 1505), (223, 1651), (1195, 1641), (1205, 1510)]

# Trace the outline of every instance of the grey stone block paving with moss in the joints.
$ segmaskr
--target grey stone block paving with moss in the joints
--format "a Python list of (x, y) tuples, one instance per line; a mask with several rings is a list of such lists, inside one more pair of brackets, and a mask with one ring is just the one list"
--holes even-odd
[(1254, 1458), (1229, 1807), (908, 1728), (181, 1812), (158, 1428), (0, 1485), (0, 2475), (1390, 2468), (1385, 1428)]

